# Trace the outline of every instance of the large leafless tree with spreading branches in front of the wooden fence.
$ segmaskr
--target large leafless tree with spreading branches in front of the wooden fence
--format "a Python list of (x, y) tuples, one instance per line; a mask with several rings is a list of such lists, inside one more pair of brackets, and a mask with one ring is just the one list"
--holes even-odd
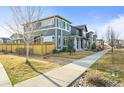
[[(29, 46), (34, 40), (33, 33), (35, 28), (38, 28), (37, 23), (41, 19), (44, 9), (42, 7), (24, 6), (10, 7), (13, 23), (6, 22), (6, 27), (2, 27), (10, 33), (23, 35), (24, 43), (26, 44), (26, 63), (29, 62)], [(35, 23), (33, 23), (35, 21)], [(40, 27), (40, 26), (39, 26)]]

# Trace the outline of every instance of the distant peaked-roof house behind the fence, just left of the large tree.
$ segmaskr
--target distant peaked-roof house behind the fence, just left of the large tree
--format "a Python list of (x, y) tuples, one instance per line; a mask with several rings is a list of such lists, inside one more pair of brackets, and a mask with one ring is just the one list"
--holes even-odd
[(15, 34), (12, 34), (10, 36), (12, 42), (14, 44), (22, 44), (24, 43), (24, 38), (23, 38), (23, 35), (22, 34), (18, 34), (18, 33), (15, 33)]

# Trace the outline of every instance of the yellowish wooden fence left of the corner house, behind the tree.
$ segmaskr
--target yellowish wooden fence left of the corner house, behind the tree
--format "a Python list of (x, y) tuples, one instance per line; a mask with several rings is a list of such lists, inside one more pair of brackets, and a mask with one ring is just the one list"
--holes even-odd
[[(55, 44), (31, 44), (30, 55), (45, 55), (52, 53), (55, 49)], [(25, 44), (0, 44), (0, 51), (4, 53), (17, 53), (20, 55), (26, 54)]]

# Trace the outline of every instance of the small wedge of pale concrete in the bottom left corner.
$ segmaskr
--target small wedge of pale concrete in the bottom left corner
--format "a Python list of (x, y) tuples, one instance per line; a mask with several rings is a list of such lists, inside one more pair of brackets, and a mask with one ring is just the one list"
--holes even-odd
[(6, 74), (3, 65), (0, 63), (0, 87), (11, 87), (12, 84)]

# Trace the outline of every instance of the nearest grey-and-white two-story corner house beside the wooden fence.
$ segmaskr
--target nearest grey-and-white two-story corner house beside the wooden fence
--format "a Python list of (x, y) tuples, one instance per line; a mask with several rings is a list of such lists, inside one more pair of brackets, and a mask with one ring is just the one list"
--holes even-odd
[[(63, 48), (63, 36), (71, 32), (71, 22), (59, 15), (36, 20), (32, 24), (34, 43), (53, 42), (56, 49)], [(24, 30), (28, 31), (28, 27), (24, 26)]]

